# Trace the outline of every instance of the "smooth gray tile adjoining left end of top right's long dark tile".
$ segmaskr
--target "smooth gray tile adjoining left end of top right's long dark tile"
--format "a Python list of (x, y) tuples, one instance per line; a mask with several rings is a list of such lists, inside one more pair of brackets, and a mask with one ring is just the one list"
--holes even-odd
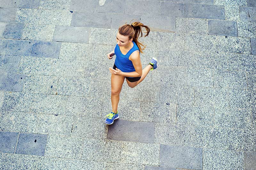
[(185, 17), (185, 5), (183, 3), (161, 2), (160, 9), (161, 16)]

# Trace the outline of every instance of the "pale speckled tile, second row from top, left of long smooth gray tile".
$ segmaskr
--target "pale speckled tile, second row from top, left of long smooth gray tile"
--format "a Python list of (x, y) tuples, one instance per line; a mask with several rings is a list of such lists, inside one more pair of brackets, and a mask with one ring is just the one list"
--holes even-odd
[(41, 10), (39, 24), (70, 26), (72, 13), (68, 10)]

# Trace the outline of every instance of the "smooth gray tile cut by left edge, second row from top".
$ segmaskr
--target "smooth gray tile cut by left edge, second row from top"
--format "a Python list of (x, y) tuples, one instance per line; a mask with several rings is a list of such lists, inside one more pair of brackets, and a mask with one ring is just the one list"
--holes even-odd
[(16, 8), (0, 8), (0, 22), (14, 22), (16, 17)]

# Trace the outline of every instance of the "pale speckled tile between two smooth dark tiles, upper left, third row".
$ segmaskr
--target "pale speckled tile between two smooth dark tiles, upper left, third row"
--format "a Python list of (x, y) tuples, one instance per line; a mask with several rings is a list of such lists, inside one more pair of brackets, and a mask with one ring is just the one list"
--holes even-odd
[(25, 24), (22, 39), (52, 41), (54, 25)]

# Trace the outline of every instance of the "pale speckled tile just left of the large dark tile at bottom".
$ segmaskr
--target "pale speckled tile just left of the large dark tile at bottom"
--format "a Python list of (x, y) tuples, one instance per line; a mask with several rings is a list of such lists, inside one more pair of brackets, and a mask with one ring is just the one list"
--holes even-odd
[(121, 163), (158, 166), (159, 145), (123, 142), (120, 156)]

